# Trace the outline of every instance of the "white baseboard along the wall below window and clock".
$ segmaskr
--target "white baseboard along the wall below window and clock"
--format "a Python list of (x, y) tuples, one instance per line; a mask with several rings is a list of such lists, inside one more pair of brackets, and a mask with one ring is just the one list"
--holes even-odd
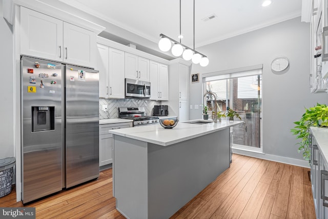
[(275, 161), (279, 163), (284, 163), (284, 164), (291, 164), (299, 167), (305, 167), (305, 168), (310, 168), (309, 162), (304, 161), (304, 160), (298, 160), (295, 158), (290, 158), (290, 157), (284, 157), (284, 156), (277, 156), (277, 155), (272, 155), (272, 154), (265, 154), (265, 153), (259, 153), (259, 152), (253, 152), (250, 150), (245, 150), (241, 148), (232, 148), (232, 152), (236, 154), (241, 154), (245, 156), (252, 156), (256, 158), (260, 158), (263, 160), (269, 160), (269, 161)]

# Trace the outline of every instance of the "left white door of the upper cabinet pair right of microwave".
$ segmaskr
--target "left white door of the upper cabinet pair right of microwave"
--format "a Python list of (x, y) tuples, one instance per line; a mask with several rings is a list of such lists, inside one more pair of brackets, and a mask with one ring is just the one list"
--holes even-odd
[(149, 81), (150, 81), (150, 99), (159, 99), (159, 63), (150, 62), (149, 67)]

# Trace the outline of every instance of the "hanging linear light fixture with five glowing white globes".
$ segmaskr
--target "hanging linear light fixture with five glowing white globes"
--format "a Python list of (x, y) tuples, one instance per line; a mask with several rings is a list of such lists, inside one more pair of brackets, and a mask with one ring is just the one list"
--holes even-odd
[(181, 44), (181, 38), (183, 38), (183, 36), (181, 35), (181, 0), (180, 0), (180, 35), (178, 36), (180, 42), (177, 42), (174, 39), (162, 33), (159, 34), (159, 36), (161, 37), (161, 39), (158, 42), (158, 47), (161, 51), (163, 52), (169, 51), (173, 43), (174, 45), (172, 46), (171, 52), (174, 56), (182, 55), (183, 59), (187, 61), (192, 60), (194, 64), (199, 63), (199, 65), (202, 67), (205, 67), (209, 64), (208, 57), (195, 50), (195, 0), (194, 0), (194, 49), (191, 49), (188, 46)]

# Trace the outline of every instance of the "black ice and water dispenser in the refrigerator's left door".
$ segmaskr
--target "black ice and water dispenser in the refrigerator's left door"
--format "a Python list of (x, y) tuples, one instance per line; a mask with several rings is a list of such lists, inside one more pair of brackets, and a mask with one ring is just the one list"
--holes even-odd
[(32, 107), (32, 132), (55, 129), (55, 107)]

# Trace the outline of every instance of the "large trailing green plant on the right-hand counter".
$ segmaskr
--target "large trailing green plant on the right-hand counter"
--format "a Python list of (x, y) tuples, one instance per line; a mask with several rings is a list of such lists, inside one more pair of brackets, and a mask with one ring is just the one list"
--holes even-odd
[(296, 125), (291, 132), (296, 135), (296, 138), (300, 138), (298, 153), (303, 153), (305, 161), (310, 161), (311, 149), (310, 149), (310, 127), (327, 127), (328, 126), (328, 107), (325, 104), (318, 104), (309, 109), (305, 109), (305, 113), (302, 115), (299, 121), (294, 122)]

